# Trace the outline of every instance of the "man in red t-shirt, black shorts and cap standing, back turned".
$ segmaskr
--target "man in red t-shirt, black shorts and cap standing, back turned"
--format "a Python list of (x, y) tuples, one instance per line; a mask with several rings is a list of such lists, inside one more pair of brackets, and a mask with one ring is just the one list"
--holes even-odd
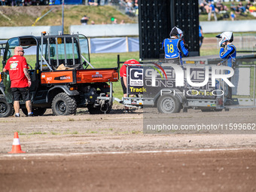
[(30, 101), (29, 87), (31, 86), (31, 78), (29, 76), (29, 67), (26, 58), (23, 56), (23, 47), (15, 47), (14, 56), (8, 59), (3, 72), (9, 72), (11, 79), (11, 93), (14, 97), (15, 117), (20, 117), (20, 96), (26, 102), (28, 116), (33, 116), (32, 104)]

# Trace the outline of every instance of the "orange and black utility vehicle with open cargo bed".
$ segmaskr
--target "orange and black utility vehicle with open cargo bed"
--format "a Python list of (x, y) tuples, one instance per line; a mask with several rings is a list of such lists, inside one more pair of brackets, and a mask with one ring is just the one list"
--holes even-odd
[[(90, 64), (87, 37), (81, 34), (20, 36), (5, 45), (3, 67), (14, 55), (14, 48), (23, 47), (32, 78), (30, 93), (34, 115), (43, 115), (52, 108), (54, 115), (75, 114), (77, 108), (88, 108), (90, 114), (108, 113), (114, 100), (112, 82), (118, 81), (119, 65), (95, 69)], [(33, 50), (35, 53), (32, 53)], [(34, 62), (35, 67), (32, 68)], [(0, 117), (14, 113), (10, 78), (2, 73), (0, 84)], [(20, 108), (27, 114), (25, 102)]]

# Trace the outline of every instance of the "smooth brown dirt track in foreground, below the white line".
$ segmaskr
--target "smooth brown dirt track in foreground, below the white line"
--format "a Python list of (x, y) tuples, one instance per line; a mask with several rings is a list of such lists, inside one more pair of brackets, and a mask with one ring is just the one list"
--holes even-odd
[(255, 191), (255, 151), (0, 160), (2, 191)]

